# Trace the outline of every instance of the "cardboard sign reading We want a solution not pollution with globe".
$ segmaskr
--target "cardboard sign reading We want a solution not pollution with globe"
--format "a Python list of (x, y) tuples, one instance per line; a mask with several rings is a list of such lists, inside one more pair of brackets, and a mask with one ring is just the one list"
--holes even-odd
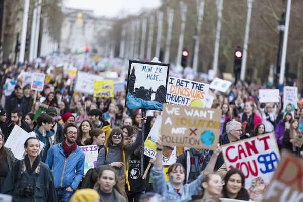
[(214, 150), (219, 141), (221, 110), (163, 105), (162, 144)]

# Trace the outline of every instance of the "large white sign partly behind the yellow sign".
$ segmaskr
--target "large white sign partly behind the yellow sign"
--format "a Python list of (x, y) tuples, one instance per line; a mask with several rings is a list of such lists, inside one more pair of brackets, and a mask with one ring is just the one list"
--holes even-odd
[(74, 91), (93, 95), (93, 81), (101, 81), (103, 79), (104, 78), (102, 76), (78, 71)]

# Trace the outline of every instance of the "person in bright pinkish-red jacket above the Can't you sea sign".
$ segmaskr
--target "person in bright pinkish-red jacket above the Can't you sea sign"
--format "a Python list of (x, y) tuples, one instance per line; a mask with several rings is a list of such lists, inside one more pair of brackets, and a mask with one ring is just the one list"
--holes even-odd
[(242, 120), (245, 132), (250, 134), (259, 123), (262, 123), (261, 117), (255, 112), (255, 105), (252, 101), (246, 101), (244, 106), (244, 112), (239, 114), (239, 118)]

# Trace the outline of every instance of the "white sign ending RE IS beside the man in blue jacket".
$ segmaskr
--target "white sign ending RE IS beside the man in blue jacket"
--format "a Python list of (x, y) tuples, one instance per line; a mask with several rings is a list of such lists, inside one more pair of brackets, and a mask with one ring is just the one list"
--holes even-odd
[(85, 155), (84, 173), (91, 168), (95, 168), (97, 165), (98, 158), (98, 147), (97, 145), (80, 146)]

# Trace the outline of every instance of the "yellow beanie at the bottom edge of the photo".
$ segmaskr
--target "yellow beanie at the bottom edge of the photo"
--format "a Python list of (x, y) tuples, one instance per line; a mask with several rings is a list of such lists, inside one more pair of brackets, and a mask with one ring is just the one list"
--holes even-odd
[(98, 192), (96, 192), (93, 189), (80, 189), (77, 190), (70, 202), (95, 202), (96, 200), (99, 200), (100, 196)]

